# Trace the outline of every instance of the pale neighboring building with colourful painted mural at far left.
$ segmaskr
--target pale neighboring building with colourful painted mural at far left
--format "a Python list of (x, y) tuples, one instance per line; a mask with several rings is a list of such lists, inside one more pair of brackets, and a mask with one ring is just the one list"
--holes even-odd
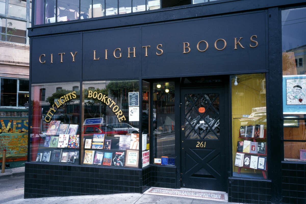
[(27, 160), (31, 4), (0, 1), (0, 162), (6, 149), (6, 168)]

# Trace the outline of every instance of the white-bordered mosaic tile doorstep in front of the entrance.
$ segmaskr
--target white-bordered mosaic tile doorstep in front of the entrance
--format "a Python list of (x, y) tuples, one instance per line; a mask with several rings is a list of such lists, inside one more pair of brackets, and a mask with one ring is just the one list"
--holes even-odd
[(172, 188), (149, 188), (145, 194), (154, 195), (169, 195), (193, 199), (205, 199), (205, 200), (217, 200), (217, 201), (228, 201), (228, 196), (225, 192), (220, 191), (205, 191), (190, 188), (172, 189)]

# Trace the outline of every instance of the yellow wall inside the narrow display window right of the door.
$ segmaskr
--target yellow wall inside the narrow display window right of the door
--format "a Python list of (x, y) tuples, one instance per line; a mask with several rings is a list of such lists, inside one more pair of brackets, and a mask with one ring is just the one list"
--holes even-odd
[[(246, 74), (237, 75), (238, 85), (234, 85), (234, 78), (232, 79), (232, 140), (233, 140), (233, 172), (238, 171), (238, 166), (234, 166), (237, 152), (237, 141), (244, 140), (239, 137), (239, 129), (241, 126), (240, 118), (242, 115), (251, 115), (252, 108), (266, 106), (266, 90), (265, 90), (265, 74)], [(262, 119), (261, 119), (262, 120)], [(267, 120), (260, 124), (265, 125), (267, 129)], [(247, 125), (259, 124), (256, 121), (249, 120)], [(245, 126), (246, 124), (244, 124)], [(265, 141), (261, 139), (258, 141)], [(255, 169), (241, 168), (241, 173), (261, 173)]]

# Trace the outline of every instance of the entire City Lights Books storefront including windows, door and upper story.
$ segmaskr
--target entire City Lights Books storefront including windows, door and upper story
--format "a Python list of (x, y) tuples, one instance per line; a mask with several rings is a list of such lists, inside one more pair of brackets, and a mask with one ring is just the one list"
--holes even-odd
[(25, 198), (306, 202), (305, 2), (33, 2)]

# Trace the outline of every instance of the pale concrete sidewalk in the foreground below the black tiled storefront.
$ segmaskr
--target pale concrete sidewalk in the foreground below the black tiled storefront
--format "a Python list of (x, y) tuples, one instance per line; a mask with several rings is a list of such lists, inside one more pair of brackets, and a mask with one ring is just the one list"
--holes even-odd
[(37, 199), (17, 199), (7, 204), (21, 204), (21, 203), (73, 203), (73, 204), (86, 204), (86, 203), (107, 203), (107, 204), (226, 204), (231, 202), (211, 201), (192, 198), (180, 198), (164, 195), (150, 195), (140, 193), (125, 193), (125, 194), (109, 194), (109, 195), (83, 195), (83, 196), (67, 196), (67, 197), (49, 197)]

